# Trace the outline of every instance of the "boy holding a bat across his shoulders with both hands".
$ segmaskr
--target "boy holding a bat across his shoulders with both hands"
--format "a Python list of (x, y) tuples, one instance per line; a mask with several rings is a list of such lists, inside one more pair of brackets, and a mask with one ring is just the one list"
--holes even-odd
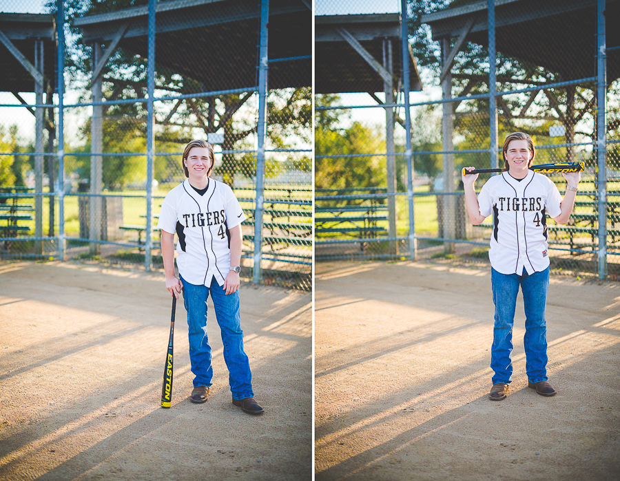
[[(502, 150), (505, 171), (490, 178), (478, 197), (477, 174), (462, 175), (465, 206), (472, 224), (482, 224), (493, 213), (493, 233), (488, 257), (495, 304), (491, 348), (493, 387), (491, 400), (502, 400), (512, 381), (513, 323), (517, 292), (521, 286), (526, 314), (526, 371), (528, 387), (541, 396), (553, 396), (547, 381), (545, 308), (549, 288), (549, 257), (545, 214), (566, 224), (575, 205), (581, 173), (562, 173), (568, 182), (564, 198), (546, 176), (530, 171), (535, 156), (532, 138), (511, 133)], [(473, 167), (466, 167), (472, 170)]]

